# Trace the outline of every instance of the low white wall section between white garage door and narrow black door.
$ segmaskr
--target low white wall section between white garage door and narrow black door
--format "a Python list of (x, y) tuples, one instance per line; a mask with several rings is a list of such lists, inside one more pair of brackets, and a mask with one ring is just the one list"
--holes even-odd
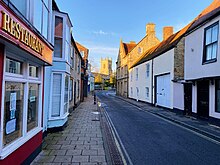
[(184, 110), (184, 85), (173, 83), (173, 108)]

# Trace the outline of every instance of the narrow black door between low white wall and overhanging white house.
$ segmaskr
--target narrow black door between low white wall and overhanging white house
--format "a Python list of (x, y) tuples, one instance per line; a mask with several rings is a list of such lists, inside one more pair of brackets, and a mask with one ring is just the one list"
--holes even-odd
[(186, 115), (192, 115), (192, 84), (184, 84), (184, 110)]

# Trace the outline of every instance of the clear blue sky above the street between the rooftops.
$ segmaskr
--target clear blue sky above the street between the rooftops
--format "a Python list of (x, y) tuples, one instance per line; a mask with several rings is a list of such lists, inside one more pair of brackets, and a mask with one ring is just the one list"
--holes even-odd
[(113, 60), (118, 56), (120, 39), (139, 42), (149, 22), (156, 24), (161, 40), (162, 28), (180, 30), (194, 19), (212, 0), (56, 0), (59, 9), (67, 12), (73, 23), (76, 41), (90, 49), (89, 60), (94, 68), (101, 57)]

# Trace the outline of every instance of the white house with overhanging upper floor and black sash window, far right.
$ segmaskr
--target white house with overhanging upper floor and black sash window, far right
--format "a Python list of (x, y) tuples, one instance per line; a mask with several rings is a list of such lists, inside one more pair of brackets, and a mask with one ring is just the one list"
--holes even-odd
[(219, 7), (220, 1), (216, 0), (202, 12), (185, 43), (184, 76), (191, 82), (189, 110), (209, 119), (220, 119)]

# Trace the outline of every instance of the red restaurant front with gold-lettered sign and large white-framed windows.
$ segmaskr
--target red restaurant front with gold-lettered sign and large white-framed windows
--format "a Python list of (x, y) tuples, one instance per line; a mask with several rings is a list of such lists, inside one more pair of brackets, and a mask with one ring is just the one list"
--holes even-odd
[(43, 137), (52, 0), (4, 0), (0, 10), (0, 164), (29, 164)]

